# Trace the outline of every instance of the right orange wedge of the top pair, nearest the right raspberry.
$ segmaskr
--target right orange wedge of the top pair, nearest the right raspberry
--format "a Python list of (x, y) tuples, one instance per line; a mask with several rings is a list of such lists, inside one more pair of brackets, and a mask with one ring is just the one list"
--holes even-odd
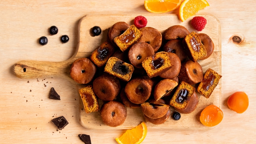
[(210, 6), (206, 0), (185, 0), (180, 4), (179, 18), (185, 21), (206, 6)]

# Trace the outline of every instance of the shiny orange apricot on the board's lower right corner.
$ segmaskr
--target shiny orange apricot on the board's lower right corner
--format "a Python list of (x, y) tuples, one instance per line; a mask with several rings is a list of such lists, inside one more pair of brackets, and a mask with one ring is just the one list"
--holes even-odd
[(200, 121), (205, 126), (215, 126), (223, 119), (223, 112), (215, 105), (204, 108), (201, 112)]

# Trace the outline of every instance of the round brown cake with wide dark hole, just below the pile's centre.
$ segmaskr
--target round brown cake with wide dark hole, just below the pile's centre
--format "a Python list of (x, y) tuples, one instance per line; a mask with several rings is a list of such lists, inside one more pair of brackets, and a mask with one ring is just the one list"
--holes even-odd
[(132, 103), (140, 104), (148, 100), (152, 86), (153, 82), (149, 78), (135, 78), (126, 84), (124, 91)]

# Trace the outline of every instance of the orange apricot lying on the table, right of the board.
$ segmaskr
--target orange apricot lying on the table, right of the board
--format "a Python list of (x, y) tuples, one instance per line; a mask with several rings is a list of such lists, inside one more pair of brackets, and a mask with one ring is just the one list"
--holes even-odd
[(249, 99), (245, 92), (235, 92), (228, 98), (228, 107), (242, 114), (249, 106)]

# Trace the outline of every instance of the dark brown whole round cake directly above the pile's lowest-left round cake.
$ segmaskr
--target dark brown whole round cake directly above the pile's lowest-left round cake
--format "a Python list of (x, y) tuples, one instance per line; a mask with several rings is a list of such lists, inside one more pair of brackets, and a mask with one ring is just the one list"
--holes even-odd
[(114, 100), (121, 89), (119, 80), (115, 76), (108, 74), (97, 77), (92, 85), (95, 94), (105, 101)]

